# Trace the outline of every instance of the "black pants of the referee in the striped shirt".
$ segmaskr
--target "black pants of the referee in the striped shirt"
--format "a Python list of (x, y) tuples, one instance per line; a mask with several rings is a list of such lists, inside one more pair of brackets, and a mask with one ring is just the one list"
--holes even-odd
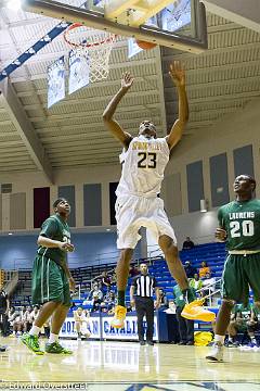
[(153, 341), (154, 335), (154, 300), (152, 298), (135, 297), (135, 311), (138, 315), (139, 341), (144, 340), (143, 318), (146, 317), (146, 341)]

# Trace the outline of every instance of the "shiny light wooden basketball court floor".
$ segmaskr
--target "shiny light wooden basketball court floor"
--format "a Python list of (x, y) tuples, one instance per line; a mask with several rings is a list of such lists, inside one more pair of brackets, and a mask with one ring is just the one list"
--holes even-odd
[(224, 363), (207, 363), (210, 348), (63, 340), (72, 356), (37, 356), (18, 338), (0, 343), (0, 389), (260, 390), (260, 352), (225, 349)]

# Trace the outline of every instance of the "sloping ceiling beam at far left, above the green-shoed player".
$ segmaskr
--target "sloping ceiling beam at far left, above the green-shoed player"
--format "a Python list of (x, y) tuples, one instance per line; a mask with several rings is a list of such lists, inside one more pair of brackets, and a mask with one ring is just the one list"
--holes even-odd
[(50, 182), (53, 182), (52, 167), (44, 148), (38, 139), (31, 123), (28, 121), (13, 86), (6, 78), (0, 84), (0, 102), (9, 113), (31, 160), (35, 162), (38, 169), (44, 173)]

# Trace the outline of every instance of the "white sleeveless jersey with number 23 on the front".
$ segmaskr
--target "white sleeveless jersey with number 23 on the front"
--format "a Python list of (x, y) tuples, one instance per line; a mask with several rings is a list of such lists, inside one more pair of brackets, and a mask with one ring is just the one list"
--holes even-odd
[(160, 193), (170, 150), (165, 138), (134, 137), (120, 154), (121, 178), (116, 195), (156, 197)]

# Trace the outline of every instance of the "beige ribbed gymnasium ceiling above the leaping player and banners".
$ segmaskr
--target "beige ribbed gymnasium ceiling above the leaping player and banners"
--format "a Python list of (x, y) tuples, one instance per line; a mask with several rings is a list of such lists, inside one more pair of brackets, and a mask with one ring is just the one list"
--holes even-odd
[[(0, 68), (57, 22), (0, 8)], [(173, 60), (180, 60), (187, 74), (186, 134), (206, 130), (259, 98), (260, 34), (212, 13), (207, 14), (207, 23), (209, 49), (199, 55), (156, 48), (131, 61), (127, 60), (127, 40), (118, 41), (107, 80), (67, 96), (48, 110), (47, 66), (68, 52), (62, 35), (57, 37), (12, 73), (9, 99), (0, 98), (0, 172), (43, 171), (51, 178), (55, 169), (117, 163), (120, 146), (104, 128), (102, 112), (126, 70), (135, 83), (116, 117), (132, 134), (142, 119), (151, 118), (162, 136), (176, 119), (177, 96), (168, 77)]]

